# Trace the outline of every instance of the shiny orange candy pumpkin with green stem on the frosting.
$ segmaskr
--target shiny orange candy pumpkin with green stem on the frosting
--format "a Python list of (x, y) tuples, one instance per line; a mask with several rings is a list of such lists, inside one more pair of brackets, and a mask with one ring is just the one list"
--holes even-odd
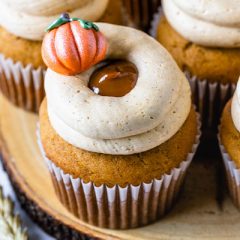
[(76, 75), (106, 56), (107, 42), (98, 27), (62, 14), (47, 28), (42, 44), (45, 64), (55, 72)]

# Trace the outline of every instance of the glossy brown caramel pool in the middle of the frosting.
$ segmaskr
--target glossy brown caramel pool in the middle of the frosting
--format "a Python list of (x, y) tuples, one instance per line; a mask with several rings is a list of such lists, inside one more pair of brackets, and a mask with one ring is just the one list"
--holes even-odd
[(101, 96), (122, 97), (134, 88), (137, 77), (134, 64), (117, 60), (95, 70), (88, 87)]

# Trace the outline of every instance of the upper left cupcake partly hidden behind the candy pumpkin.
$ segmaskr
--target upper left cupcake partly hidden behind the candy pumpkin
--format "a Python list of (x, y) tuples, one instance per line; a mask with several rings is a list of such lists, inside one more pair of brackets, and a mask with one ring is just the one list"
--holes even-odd
[(41, 41), (45, 26), (63, 11), (92, 21), (123, 23), (120, 0), (1, 1), (0, 90), (26, 110), (37, 112), (45, 95)]

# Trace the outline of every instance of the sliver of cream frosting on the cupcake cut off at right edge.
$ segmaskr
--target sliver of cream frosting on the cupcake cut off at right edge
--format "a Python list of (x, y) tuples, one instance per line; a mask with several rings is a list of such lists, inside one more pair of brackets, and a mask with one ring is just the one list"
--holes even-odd
[(233, 95), (231, 106), (232, 120), (236, 129), (240, 132), (240, 78), (238, 80), (237, 88)]

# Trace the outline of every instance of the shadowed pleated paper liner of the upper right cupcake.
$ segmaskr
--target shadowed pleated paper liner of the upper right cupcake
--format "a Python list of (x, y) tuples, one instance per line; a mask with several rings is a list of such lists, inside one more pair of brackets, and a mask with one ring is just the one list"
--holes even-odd
[[(158, 12), (154, 14), (149, 31), (149, 34), (154, 38), (156, 38), (158, 24), (162, 16), (163, 11), (159, 7)], [(185, 71), (185, 75), (191, 86), (193, 104), (197, 107), (202, 118), (202, 129), (216, 133), (222, 110), (232, 97), (236, 84), (212, 83), (207, 79), (199, 79), (188, 71)]]

